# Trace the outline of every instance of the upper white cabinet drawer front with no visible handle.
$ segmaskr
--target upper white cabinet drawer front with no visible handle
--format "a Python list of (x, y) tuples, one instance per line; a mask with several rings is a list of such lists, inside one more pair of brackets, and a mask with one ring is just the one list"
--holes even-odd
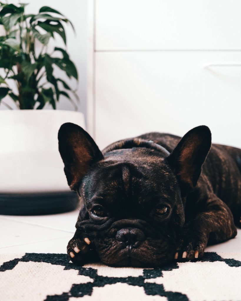
[(96, 0), (96, 49), (241, 49), (240, 0)]

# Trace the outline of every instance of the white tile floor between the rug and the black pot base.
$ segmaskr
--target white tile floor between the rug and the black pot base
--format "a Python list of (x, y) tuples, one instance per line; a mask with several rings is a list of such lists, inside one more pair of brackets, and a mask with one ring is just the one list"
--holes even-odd
[[(78, 209), (68, 213), (42, 216), (0, 215), (0, 254), (66, 253), (66, 246), (75, 232)], [(225, 243), (210, 246), (206, 251), (241, 252), (241, 229)]]

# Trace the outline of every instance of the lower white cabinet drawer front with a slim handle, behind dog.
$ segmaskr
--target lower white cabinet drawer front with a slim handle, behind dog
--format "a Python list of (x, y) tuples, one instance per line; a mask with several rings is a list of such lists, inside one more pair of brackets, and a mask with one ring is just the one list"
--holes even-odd
[(95, 76), (101, 148), (151, 131), (182, 136), (202, 124), (213, 141), (241, 147), (239, 52), (99, 52)]

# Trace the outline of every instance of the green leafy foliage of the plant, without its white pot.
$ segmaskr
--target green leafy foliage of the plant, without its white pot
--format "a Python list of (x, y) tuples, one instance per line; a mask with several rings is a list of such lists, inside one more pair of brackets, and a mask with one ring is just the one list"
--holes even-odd
[[(56, 109), (60, 95), (70, 101), (69, 92), (77, 95), (63, 79), (54, 76), (53, 66), (59, 67), (69, 78), (78, 79), (78, 73), (64, 48), (55, 47), (48, 53), (48, 45), (55, 35), (66, 45), (63, 23), (73, 25), (48, 6), (41, 7), (37, 14), (25, 14), (25, 6), (0, 5), (0, 24), (5, 29), (5, 35), (0, 37), (0, 68), (5, 73), (0, 77), (0, 101), (8, 95), (22, 110), (39, 110), (48, 103)], [(57, 52), (61, 52), (62, 57), (56, 56)], [(17, 94), (11, 82), (16, 84)]]

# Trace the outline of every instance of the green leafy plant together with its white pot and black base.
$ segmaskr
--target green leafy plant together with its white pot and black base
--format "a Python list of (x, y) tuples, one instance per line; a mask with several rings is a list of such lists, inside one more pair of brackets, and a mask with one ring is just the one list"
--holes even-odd
[[(0, 2), (0, 27), (5, 32), (0, 36), (0, 104), (20, 109), (0, 111), (2, 214), (61, 212), (77, 204), (73, 201), (76, 196), (72, 206), (66, 206), (62, 197), (63, 202), (56, 208), (61, 196), (67, 193), (67, 198), (72, 197), (58, 154), (58, 128), (68, 121), (84, 127), (82, 113), (55, 110), (61, 95), (77, 109), (76, 92), (66, 82), (67, 78), (77, 81), (78, 73), (65, 48), (64, 24), (69, 23), (73, 30), (74, 27), (59, 11), (48, 6), (41, 7), (37, 14), (25, 14), (26, 5)], [(50, 42), (56, 35), (61, 37), (64, 47), (51, 49)], [(62, 71), (58, 72), (58, 68)], [(56, 75), (59, 73), (62, 76)], [(46, 105), (54, 110), (41, 110)], [(25, 200), (21, 206), (20, 197)], [(48, 197), (55, 199), (51, 210), (46, 207)], [(37, 198), (39, 206), (27, 212), (24, 207)], [(16, 200), (17, 210), (9, 210), (16, 208), (16, 204), (12, 205)], [(12, 204), (7, 208), (10, 201)]]

